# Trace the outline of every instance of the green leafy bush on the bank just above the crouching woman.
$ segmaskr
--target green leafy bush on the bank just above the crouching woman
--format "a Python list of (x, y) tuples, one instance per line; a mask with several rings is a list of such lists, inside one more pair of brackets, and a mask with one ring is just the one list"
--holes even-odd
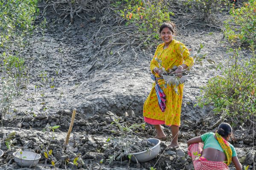
[(230, 57), (227, 66), (220, 65), (221, 76), (209, 79), (199, 106), (212, 104), (215, 113), (224, 113), (235, 124), (251, 119), (256, 109), (256, 55), (241, 59), (238, 51)]

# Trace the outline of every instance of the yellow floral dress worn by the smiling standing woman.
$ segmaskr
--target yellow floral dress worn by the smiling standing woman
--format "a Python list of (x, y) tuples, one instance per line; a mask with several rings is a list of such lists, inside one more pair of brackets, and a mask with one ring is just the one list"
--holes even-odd
[[(163, 67), (168, 71), (169, 68), (173, 66), (178, 66), (186, 64), (187, 66), (192, 66), (194, 64), (193, 58), (189, 57), (189, 50), (186, 46), (177, 41), (172, 40), (168, 48), (163, 49), (164, 43), (157, 46), (154, 57), (150, 63), (150, 69), (154, 73), (153, 69), (158, 67), (158, 62), (155, 59), (160, 59), (162, 61)], [(163, 79), (158, 80), (159, 85), (163, 85)], [(163, 92), (166, 94), (166, 110), (162, 112), (158, 105), (157, 95), (155, 91), (155, 83), (151, 89), (151, 92), (146, 99), (143, 106), (143, 116), (151, 119), (157, 119), (165, 121), (166, 125), (176, 125), (180, 126), (180, 112), (183, 94), (183, 84), (178, 85), (178, 94), (175, 93), (173, 85), (167, 85), (167, 88), (162, 88)]]

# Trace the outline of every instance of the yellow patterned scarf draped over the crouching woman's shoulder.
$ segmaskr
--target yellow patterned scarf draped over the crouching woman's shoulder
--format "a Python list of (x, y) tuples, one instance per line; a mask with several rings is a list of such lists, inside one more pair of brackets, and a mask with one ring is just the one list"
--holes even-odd
[(225, 153), (226, 157), (227, 157), (227, 161), (226, 164), (229, 165), (232, 161), (232, 150), (230, 145), (228, 144), (228, 142), (218, 133), (215, 133), (215, 136), (219, 142), (219, 144), (221, 145), (221, 148), (223, 149), (223, 152)]

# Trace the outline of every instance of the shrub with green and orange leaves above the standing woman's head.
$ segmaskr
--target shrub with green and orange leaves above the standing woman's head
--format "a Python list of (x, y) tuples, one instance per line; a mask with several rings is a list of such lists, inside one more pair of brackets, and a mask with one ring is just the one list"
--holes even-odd
[[(126, 25), (133, 24), (138, 28), (144, 45), (151, 45), (159, 39), (159, 27), (162, 23), (170, 21), (170, 14), (164, 0), (124, 0), (125, 7), (119, 10), (120, 15), (127, 21)], [(144, 3), (145, 2), (145, 3)]]

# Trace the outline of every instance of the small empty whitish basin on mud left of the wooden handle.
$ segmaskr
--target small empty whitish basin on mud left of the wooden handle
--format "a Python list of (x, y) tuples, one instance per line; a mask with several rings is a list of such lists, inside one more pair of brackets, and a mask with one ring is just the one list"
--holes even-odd
[[(38, 164), (39, 159), (41, 156), (37, 153), (33, 152), (22, 152), (20, 156), (20, 151), (15, 152), (12, 154), (14, 157), (14, 161), (20, 167), (35, 167)], [(30, 166), (31, 165), (31, 166)]]

